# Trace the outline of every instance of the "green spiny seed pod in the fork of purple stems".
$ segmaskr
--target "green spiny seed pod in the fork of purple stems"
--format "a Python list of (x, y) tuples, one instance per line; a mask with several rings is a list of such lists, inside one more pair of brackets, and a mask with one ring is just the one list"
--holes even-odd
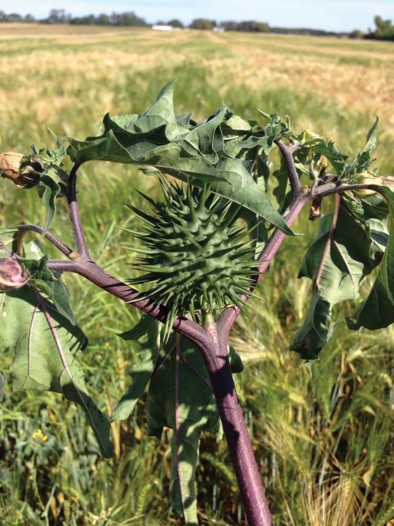
[(169, 309), (165, 331), (174, 318), (190, 312), (194, 320), (201, 310), (213, 312), (226, 306), (242, 309), (239, 295), (250, 295), (253, 261), (250, 242), (237, 222), (241, 207), (190, 185), (178, 186), (160, 179), (164, 201), (142, 195), (155, 210), (155, 217), (128, 207), (144, 221), (141, 232), (131, 231), (145, 248), (133, 265), (144, 275), (132, 285), (150, 284), (144, 297)]

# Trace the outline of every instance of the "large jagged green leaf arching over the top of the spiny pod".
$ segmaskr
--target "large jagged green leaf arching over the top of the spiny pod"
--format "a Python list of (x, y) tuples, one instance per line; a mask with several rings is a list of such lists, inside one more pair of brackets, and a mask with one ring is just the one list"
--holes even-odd
[[(286, 234), (293, 234), (253, 180), (247, 169), (251, 163), (243, 164), (225, 153), (222, 126), (227, 134), (236, 127), (242, 128), (236, 131), (241, 134), (254, 130), (257, 145), (268, 140), (263, 128), (233, 116), (226, 106), (192, 125), (190, 114), (175, 116), (173, 89), (174, 81), (164, 86), (153, 106), (141, 116), (111, 118), (107, 114), (98, 135), (84, 141), (66, 138), (70, 143), (68, 155), (77, 163), (106, 160), (136, 164), (147, 167), (149, 173), (153, 167), (183, 181), (190, 179), (198, 186), (211, 182), (215, 193), (253, 211)], [(275, 126), (281, 128), (280, 123)], [(271, 145), (275, 136), (274, 132), (269, 136)]]

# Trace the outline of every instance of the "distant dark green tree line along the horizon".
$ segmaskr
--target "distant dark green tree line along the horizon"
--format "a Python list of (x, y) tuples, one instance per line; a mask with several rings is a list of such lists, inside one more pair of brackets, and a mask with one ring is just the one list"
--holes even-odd
[[(111, 13), (110, 15), (100, 13), (99, 15), (85, 15), (72, 16), (66, 13), (65, 9), (51, 9), (47, 18), (37, 20), (33, 15), (22, 16), (17, 13), (6, 14), (0, 11), (0, 23), (2, 22), (40, 22), (43, 24), (79, 24), (79, 25), (109, 25), (109, 26), (136, 26), (136, 27), (150, 27), (143, 18), (137, 16), (132, 11), (125, 13)], [(369, 29), (368, 33), (363, 33), (359, 29), (355, 29), (349, 33), (336, 33), (333, 31), (323, 31), (322, 29), (308, 29), (308, 28), (286, 28), (286, 27), (270, 27), (266, 22), (250, 21), (222, 21), (217, 22), (208, 18), (195, 18), (191, 24), (184, 26), (183, 23), (173, 18), (167, 22), (159, 21), (157, 25), (170, 25), (177, 28), (203, 29), (210, 31), (213, 28), (220, 28), (221, 31), (242, 31), (248, 33), (282, 33), (282, 34), (298, 34), (298, 35), (314, 35), (314, 36), (340, 36), (347, 35), (350, 38), (369, 38), (378, 40), (393, 40), (394, 41), (394, 25), (391, 20), (384, 20), (381, 16), (374, 18), (376, 29), (372, 31)]]

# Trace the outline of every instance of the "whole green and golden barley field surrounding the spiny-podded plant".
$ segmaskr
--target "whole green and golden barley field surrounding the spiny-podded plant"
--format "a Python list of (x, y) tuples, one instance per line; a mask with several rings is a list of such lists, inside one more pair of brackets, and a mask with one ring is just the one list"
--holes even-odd
[[(53, 147), (58, 136), (84, 139), (102, 117), (143, 114), (177, 78), (175, 110), (200, 120), (224, 101), (258, 120), (256, 108), (289, 115), (357, 155), (375, 116), (381, 175), (394, 175), (392, 43), (282, 35), (84, 26), (0, 25), (1, 151)], [(99, 164), (99, 163), (98, 163)], [(125, 201), (155, 181), (121, 165), (81, 169), (79, 203), (96, 262), (127, 279), (130, 226)], [(0, 225), (42, 224), (33, 191), (1, 180)], [(92, 193), (94, 190), (94, 194)], [(329, 206), (329, 203), (328, 205)], [(310, 284), (297, 280), (317, 225), (286, 239), (261, 281), (248, 318), (232, 333), (245, 372), (237, 388), (275, 526), (394, 524), (394, 330), (350, 332), (338, 321), (312, 376), (288, 350), (309, 306)], [(71, 245), (64, 203), (51, 230)], [(50, 246), (44, 249), (53, 254)], [(79, 358), (91, 396), (108, 414), (127, 389), (138, 359), (116, 335), (138, 312), (82, 279), (65, 276), (90, 345)], [(338, 308), (339, 319), (351, 306)], [(6, 380), (12, 356), (0, 358)], [(168, 500), (169, 436), (147, 437), (142, 398), (127, 421), (112, 424), (115, 457), (99, 457), (73, 404), (42, 392), (6, 388), (0, 410), (0, 522), (5, 526), (182, 524)], [(201, 524), (245, 525), (225, 442), (207, 433), (197, 472)]]

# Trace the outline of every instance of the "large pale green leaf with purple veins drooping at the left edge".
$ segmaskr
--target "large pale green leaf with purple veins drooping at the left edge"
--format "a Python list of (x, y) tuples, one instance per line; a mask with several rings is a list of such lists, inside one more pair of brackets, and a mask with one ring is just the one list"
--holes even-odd
[(15, 351), (11, 366), (14, 391), (63, 393), (84, 410), (101, 454), (111, 457), (110, 423), (89, 397), (75, 358), (87, 345), (80, 327), (29, 285), (1, 296), (0, 347)]

